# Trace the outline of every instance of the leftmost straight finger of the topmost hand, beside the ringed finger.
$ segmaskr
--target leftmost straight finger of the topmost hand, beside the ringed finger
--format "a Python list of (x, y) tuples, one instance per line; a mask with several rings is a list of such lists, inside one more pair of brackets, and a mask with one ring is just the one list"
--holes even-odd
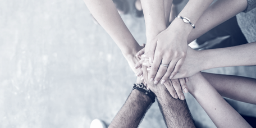
[(154, 78), (156, 77), (156, 74), (157, 74), (157, 71), (158, 71), (161, 61), (162, 61), (162, 57), (160, 57), (160, 56), (154, 58), (154, 61), (151, 65), (151, 70), (148, 75), (148, 79), (150, 81), (154, 81)]

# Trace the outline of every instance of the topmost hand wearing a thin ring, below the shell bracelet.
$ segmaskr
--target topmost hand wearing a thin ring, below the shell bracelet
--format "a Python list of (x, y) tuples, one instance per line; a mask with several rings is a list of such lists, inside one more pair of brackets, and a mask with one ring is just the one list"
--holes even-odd
[[(184, 22), (180, 23), (182, 24), (179, 26), (184, 25)], [(145, 46), (145, 53), (148, 53), (149, 62), (152, 64), (148, 79), (154, 81), (154, 84), (171, 79), (185, 61), (189, 33), (178, 28), (179, 26), (172, 23)]]

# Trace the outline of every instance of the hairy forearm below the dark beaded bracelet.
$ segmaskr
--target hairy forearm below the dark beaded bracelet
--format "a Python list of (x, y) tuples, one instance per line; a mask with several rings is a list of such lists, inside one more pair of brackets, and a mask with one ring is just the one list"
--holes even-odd
[(147, 95), (139, 90), (132, 90), (124, 106), (122, 106), (109, 127), (138, 127), (151, 102)]

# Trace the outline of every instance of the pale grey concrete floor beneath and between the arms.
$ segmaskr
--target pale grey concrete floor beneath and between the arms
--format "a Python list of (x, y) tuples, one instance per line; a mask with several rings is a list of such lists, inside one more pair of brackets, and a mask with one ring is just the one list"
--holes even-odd
[[(94, 118), (111, 122), (136, 77), (83, 1), (2, 0), (0, 19), (0, 127), (89, 127)], [(122, 19), (145, 43), (144, 19)], [(256, 78), (255, 71), (254, 66), (207, 70)], [(215, 127), (191, 95), (186, 100), (195, 121)], [(234, 104), (256, 116), (252, 104)], [(165, 127), (156, 103), (140, 127)]]

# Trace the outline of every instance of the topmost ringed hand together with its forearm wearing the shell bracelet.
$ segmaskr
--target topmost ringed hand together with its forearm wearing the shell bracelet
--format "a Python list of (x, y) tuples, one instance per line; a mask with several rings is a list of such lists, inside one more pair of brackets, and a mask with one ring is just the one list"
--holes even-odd
[[(179, 15), (189, 17), (195, 24), (211, 3), (212, 0), (191, 0)], [(152, 63), (152, 70), (148, 76), (150, 81), (154, 80), (157, 84), (161, 79), (167, 80), (168, 77), (172, 78), (177, 73), (185, 61), (187, 40), (192, 29), (191, 25), (185, 24), (181, 19), (175, 19), (166, 30), (147, 41), (145, 53), (148, 53), (149, 62)], [(169, 66), (162, 66), (161, 63)]]

